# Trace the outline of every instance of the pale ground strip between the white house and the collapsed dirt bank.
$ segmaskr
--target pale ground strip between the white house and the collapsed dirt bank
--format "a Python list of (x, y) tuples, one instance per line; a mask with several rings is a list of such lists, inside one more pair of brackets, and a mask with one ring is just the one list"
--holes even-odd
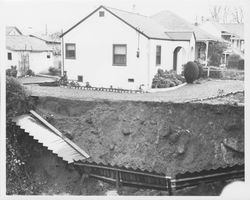
[(206, 99), (218, 94), (228, 94), (244, 90), (244, 82), (239, 80), (210, 80), (201, 84), (187, 84), (167, 92), (127, 94), (102, 91), (86, 91), (60, 87), (25, 86), (34, 96), (51, 96), (75, 100), (113, 100), (113, 101), (154, 101), (188, 102)]

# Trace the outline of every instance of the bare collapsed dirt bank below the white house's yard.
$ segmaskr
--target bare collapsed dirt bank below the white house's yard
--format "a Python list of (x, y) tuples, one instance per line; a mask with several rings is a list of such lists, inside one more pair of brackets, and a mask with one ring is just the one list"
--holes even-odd
[(38, 110), (96, 162), (167, 175), (244, 162), (244, 107), (44, 97)]

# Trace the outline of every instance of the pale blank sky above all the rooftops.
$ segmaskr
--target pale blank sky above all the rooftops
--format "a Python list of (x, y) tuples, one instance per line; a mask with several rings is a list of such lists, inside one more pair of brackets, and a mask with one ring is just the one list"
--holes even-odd
[(247, 0), (5, 0), (5, 25), (24, 32), (65, 31), (100, 5), (153, 15), (170, 10), (194, 23), (213, 5), (242, 6)]

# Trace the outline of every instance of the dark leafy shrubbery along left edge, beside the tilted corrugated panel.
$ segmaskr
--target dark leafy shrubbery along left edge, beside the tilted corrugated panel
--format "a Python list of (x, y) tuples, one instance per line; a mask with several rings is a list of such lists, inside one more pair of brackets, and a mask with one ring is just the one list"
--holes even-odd
[(7, 194), (32, 194), (33, 184), (29, 181), (29, 171), (25, 153), (27, 146), (23, 147), (19, 135), (11, 119), (34, 109), (34, 103), (23, 86), (13, 77), (6, 77), (6, 192)]

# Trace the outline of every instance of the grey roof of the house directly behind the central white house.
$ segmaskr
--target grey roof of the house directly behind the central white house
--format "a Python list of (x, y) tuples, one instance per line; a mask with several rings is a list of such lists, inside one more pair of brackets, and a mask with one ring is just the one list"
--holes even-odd
[(164, 10), (153, 16), (151, 16), (158, 23), (162, 24), (167, 30), (175, 32), (194, 32), (197, 41), (204, 40), (213, 40), (221, 41), (220, 38), (217, 38), (206, 31), (203, 31), (199, 27), (189, 23), (182, 17), (179, 17), (175, 13)]

